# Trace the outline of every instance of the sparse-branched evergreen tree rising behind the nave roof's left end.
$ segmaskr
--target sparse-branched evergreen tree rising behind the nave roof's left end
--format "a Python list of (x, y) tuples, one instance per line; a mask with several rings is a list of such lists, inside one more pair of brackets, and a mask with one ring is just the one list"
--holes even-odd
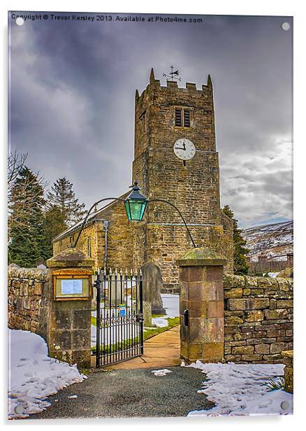
[[(82, 220), (86, 211), (85, 204), (79, 204), (73, 192), (73, 184), (66, 178), (59, 178), (53, 184), (51, 191), (47, 195), (48, 210), (57, 207), (61, 213), (61, 218), (57, 222), (64, 222), (66, 227), (71, 227)], [(54, 213), (55, 215), (55, 213)], [(59, 213), (57, 213), (59, 215)], [(58, 232), (59, 233), (59, 232)]]

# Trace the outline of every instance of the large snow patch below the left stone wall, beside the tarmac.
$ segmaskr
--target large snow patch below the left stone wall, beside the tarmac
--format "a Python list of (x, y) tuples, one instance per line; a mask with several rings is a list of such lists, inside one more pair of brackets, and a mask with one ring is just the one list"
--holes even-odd
[(24, 418), (50, 405), (45, 397), (86, 376), (76, 365), (48, 357), (45, 340), (37, 334), (8, 330), (8, 418)]

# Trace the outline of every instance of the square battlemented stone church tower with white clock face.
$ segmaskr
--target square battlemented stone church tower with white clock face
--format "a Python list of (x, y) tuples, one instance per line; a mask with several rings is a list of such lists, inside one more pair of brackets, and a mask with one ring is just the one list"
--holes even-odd
[[(177, 155), (176, 149), (180, 149)], [(210, 246), (226, 255), (231, 270), (232, 227), (220, 210), (210, 76), (201, 90), (194, 83), (180, 88), (174, 81), (162, 87), (152, 69), (147, 88), (140, 96), (136, 90), (134, 179), (149, 199), (175, 204), (196, 246)], [(176, 285), (175, 258), (192, 248), (179, 213), (167, 204), (152, 202), (143, 224), (135, 228), (136, 266), (142, 262), (159, 264), (164, 288)]]

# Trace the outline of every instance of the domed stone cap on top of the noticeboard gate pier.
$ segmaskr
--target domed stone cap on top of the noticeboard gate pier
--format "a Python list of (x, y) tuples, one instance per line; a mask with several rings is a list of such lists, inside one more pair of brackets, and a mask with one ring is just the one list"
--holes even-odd
[(47, 260), (48, 268), (93, 267), (94, 259), (76, 248), (66, 248)]

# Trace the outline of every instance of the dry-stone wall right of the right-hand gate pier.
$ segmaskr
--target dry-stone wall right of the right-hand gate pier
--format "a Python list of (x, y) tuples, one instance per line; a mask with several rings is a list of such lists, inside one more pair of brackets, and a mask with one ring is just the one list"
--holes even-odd
[(293, 278), (224, 275), (226, 362), (282, 362), (293, 349)]

